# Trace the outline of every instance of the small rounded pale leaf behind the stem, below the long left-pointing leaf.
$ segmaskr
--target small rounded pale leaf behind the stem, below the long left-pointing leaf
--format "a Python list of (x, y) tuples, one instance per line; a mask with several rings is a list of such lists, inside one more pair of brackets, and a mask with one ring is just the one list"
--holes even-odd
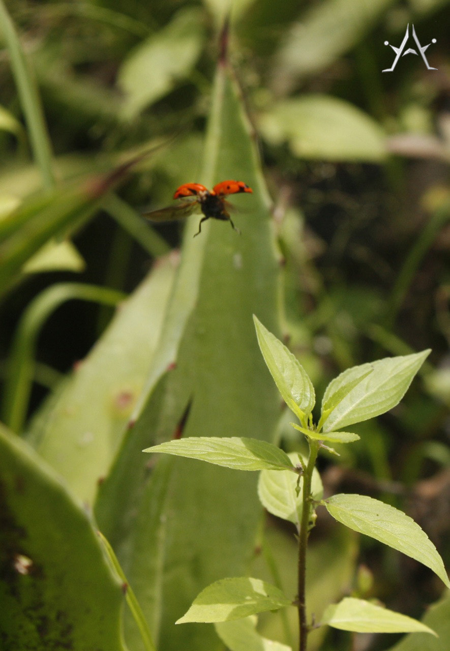
[[(288, 455), (292, 464), (298, 464), (298, 454)], [(304, 464), (304, 462), (303, 462)], [(272, 515), (293, 522), (297, 529), (302, 519), (303, 477), (300, 477), (300, 493), (296, 494), (298, 475), (289, 471), (263, 470), (259, 475), (258, 495), (262, 506)], [(324, 490), (318, 470), (313, 470), (311, 483), (313, 499), (322, 499)]]

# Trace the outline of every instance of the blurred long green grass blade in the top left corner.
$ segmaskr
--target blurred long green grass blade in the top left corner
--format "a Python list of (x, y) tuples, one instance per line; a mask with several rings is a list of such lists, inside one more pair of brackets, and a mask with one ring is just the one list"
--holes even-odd
[(16, 81), (20, 103), (29, 129), (33, 156), (40, 168), (44, 187), (55, 186), (55, 176), (51, 167), (51, 144), (42, 111), (40, 96), (14, 23), (8, 14), (3, 0), (0, 0), (0, 29), (3, 32), (11, 59), (11, 68)]

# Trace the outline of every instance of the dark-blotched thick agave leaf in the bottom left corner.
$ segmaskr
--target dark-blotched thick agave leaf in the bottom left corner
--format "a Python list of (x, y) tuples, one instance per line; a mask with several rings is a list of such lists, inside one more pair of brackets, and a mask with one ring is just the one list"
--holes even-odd
[(5, 428), (0, 477), (1, 648), (123, 651), (122, 589), (85, 510)]

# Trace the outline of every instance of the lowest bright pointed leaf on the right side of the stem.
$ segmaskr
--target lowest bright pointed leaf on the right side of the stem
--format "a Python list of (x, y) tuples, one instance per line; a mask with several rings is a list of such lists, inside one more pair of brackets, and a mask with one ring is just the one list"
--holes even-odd
[(412, 617), (395, 613), (363, 599), (346, 597), (328, 606), (321, 624), (355, 633), (436, 633)]

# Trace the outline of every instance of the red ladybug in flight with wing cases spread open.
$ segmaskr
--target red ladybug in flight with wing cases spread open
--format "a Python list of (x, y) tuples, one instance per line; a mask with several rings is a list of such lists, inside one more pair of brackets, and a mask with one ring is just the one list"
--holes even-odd
[(210, 217), (229, 221), (231, 227), (239, 233), (240, 230), (236, 229), (228, 212), (232, 209), (232, 205), (225, 201), (225, 197), (240, 192), (253, 193), (253, 190), (243, 181), (221, 181), (212, 190), (208, 190), (200, 183), (185, 183), (178, 187), (173, 195), (174, 199), (181, 199), (182, 201), (168, 208), (146, 212), (144, 217), (151, 221), (175, 221), (176, 219), (188, 217), (194, 212), (202, 212), (203, 217), (199, 222), (199, 230), (194, 237), (201, 233), (202, 223), (206, 219), (210, 219)]

